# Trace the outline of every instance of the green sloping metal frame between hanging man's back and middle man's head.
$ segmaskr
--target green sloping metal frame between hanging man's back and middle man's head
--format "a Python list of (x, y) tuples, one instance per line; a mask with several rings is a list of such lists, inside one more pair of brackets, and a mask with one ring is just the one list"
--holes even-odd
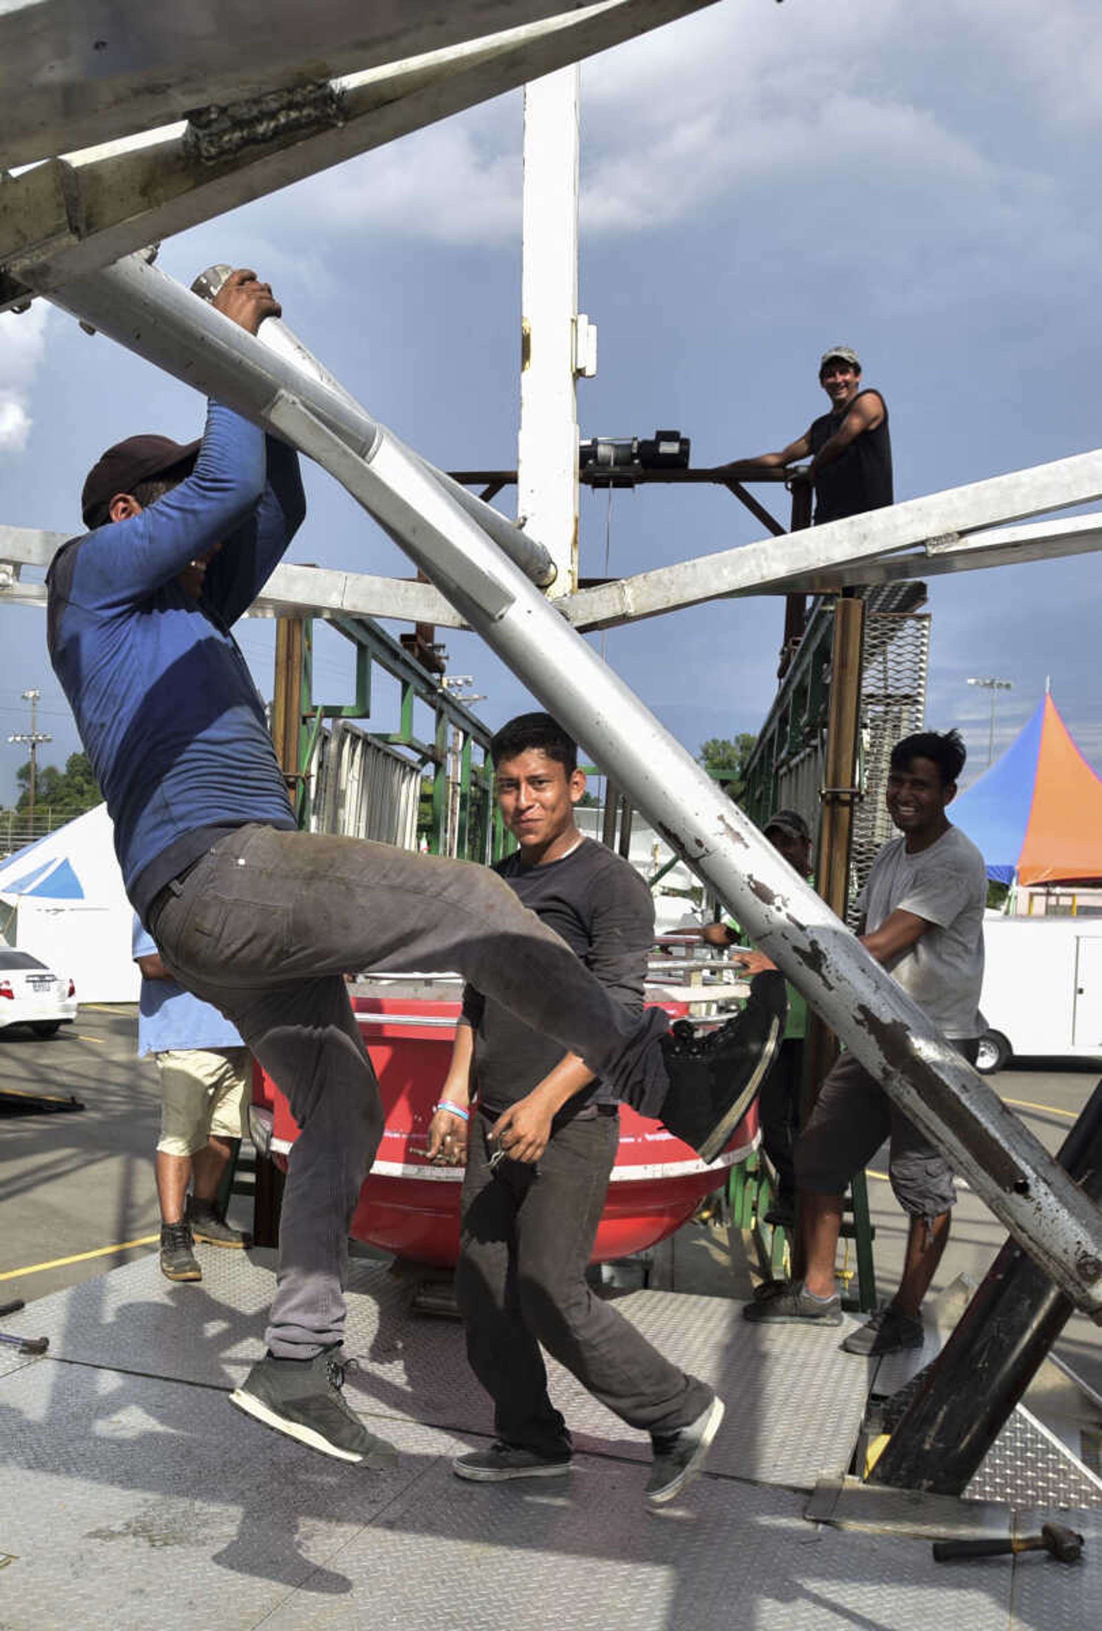
[[(372, 731), (377, 742), (401, 747), (432, 781), (429, 850), (440, 855), (448, 819), (448, 736), (460, 731), (460, 819), (456, 853), (463, 860), (499, 860), (512, 840), (494, 799), (494, 770), (489, 760), (492, 732), (463, 703), (456, 701), (442, 685), (440, 677), (422, 667), (386, 630), (370, 618), (336, 617), (328, 626), (342, 634), (355, 648), (355, 696), (350, 703), (321, 703), (313, 692), (313, 620), (303, 621), (302, 641), (302, 726), (298, 732), (297, 819), (305, 827), (311, 814), (311, 788), (305, 775), (318, 736), (326, 719), (370, 719), (372, 675), (375, 665), (383, 669), (401, 687), (396, 731)], [(434, 713), (434, 739), (424, 742), (414, 732), (414, 706), (424, 703)], [(476, 760), (474, 749), (481, 758)]]

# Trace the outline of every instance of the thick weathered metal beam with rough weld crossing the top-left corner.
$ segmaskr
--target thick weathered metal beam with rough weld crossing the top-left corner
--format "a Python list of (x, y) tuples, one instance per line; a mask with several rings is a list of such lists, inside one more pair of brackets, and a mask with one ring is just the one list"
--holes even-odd
[[(83, 0), (80, 0), (83, 7)], [(313, 23), (315, 7), (289, 0), (297, 18)], [(543, 21), (514, 26), (492, 38), (434, 51), (421, 57), (385, 62), (336, 82), (341, 98), (337, 124), (315, 130), (276, 132), (262, 145), (246, 145), (217, 163), (196, 157), (186, 124), (158, 127), (145, 135), (112, 140), (80, 152), (90, 140), (80, 119), (55, 126), (55, 145), (67, 150), (0, 184), (0, 310), (26, 297), (26, 287), (46, 292), (73, 277), (251, 199), (316, 175), (357, 153), (381, 147), (437, 119), (460, 113), (533, 75), (548, 73), (579, 57), (605, 51), (636, 34), (659, 28), (714, 0), (602, 0), (564, 11), (541, 7), (487, 5), (491, 13), (509, 11), (512, 21), (533, 11), (553, 10)], [(155, 18), (160, 8), (142, 7)], [(163, 8), (168, 13), (170, 8)], [(187, 15), (192, 7), (178, 7)], [(222, 8), (225, 10), (225, 7)], [(357, 11), (368, 11), (362, 5)], [(370, 8), (375, 11), (378, 8)], [(466, 10), (471, 10), (469, 7)], [(266, 13), (256, 11), (258, 18)], [(15, 57), (2, 44), (0, 65), (15, 73)], [(82, 36), (83, 38), (83, 36)], [(230, 54), (225, 51), (223, 57)], [(313, 57), (303, 60), (313, 62)], [(360, 67), (357, 59), (355, 67)], [(174, 85), (173, 75), (168, 86)], [(0, 69), (0, 91), (5, 86)], [(231, 86), (233, 90), (233, 86)], [(191, 93), (189, 93), (191, 95)], [(178, 113), (196, 103), (217, 101), (215, 95), (194, 93), (194, 101), (174, 101)], [(18, 161), (8, 129), (11, 98), (0, 95), (0, 178), (5, 165)], [(163, 117), (168, 117), (168, 111)], [(129, 126), (127, 129), (139, 129)], [(111, 130), (101, 134), (112, 134)]]

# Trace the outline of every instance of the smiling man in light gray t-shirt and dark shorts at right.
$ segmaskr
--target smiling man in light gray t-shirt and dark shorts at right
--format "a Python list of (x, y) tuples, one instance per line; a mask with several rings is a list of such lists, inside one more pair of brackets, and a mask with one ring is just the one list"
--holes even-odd
[[(957, 731), (908, 736), (892, 750), (887, 807), (901, 837), (884, 845), (861, 894), (861, 943), (975, 1062), (983, 1032), (983, 856), (946, 817), (965, 747)], [(957, 1200), (952, 1168), (888, 1099), (853, 1054), (843, 1054), (820, 1088), (796, 1147), (804, 1280), (743, 1308), (755, 1324), (841, 1324), (835, 1253), (843, 1197), (890, 1137), (888, 1173), (910, 1217), (898, 1290), (841, 1344), (849, 1354), (921, 1347), (919, 1308), (949, 1240)]]

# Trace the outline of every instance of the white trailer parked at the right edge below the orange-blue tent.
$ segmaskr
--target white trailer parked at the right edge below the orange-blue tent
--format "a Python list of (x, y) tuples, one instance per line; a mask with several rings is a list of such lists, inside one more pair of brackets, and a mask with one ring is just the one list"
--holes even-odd
[(1102, 917), (988, 917), (983, 944), (978, 1070), (1012, 1054), (1102, 1059)]

